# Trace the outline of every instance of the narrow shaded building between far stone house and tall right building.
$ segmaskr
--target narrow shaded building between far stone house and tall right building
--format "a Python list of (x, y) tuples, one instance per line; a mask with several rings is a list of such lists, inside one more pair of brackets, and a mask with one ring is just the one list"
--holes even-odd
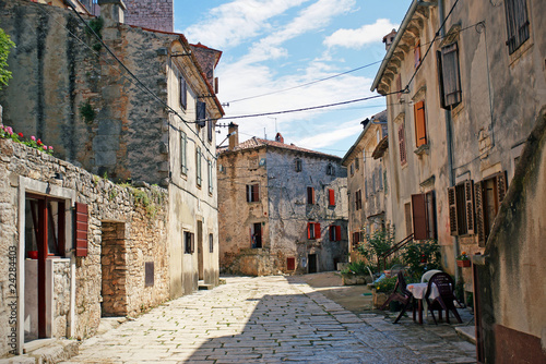
[(364, 130), (342, 159), (347, 168), (348, 233), (351, 258), (367, 233), (390, 227), (387, 214), (387, 170), (372, 154), (387, 137), (387, 110), (361, 122)]

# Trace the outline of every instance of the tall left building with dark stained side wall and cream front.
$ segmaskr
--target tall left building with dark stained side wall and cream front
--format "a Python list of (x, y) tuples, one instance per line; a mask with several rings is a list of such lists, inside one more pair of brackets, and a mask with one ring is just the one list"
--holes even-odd
[(13, 78), (0, 92), (3, 122), (92, 173), (166, 189), (168, 296), (217, 284), (214, 131), (223, 109), (211, 82), (221, 52), (120, 23), (119, 0), (99, 4), (102, 28), (84, 19), (117, 60), (70, 10), (0, 2), (17, 46), (8, 60)]

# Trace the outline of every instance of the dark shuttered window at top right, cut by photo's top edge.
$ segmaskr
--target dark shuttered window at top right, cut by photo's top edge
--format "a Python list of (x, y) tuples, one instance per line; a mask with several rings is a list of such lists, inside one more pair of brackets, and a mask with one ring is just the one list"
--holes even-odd
[(508, 52), (512, 54), (529, 39), (529, 17), (526, 0), (506, 0)]

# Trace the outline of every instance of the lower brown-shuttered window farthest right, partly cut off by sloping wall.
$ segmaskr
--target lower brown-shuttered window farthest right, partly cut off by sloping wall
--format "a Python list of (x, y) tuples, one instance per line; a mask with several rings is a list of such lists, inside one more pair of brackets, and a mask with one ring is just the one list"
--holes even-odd
[(478, 245), (485, 246), (495, 217), (500, 208), (500, 203), (507, 193), (507, 174), (500, 172), (474, 184), (474, 198), (476, 203), (476, 233)]

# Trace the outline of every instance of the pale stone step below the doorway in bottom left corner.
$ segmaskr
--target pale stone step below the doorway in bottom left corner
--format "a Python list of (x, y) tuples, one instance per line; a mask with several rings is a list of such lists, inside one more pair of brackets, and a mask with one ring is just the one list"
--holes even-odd
[(78, 355), (80, 342), (68, 339), (40, 339), (26, 342), (23, 347), (23, 355), (1, 359), (0, 364), (11, 363), (59, 363)]

